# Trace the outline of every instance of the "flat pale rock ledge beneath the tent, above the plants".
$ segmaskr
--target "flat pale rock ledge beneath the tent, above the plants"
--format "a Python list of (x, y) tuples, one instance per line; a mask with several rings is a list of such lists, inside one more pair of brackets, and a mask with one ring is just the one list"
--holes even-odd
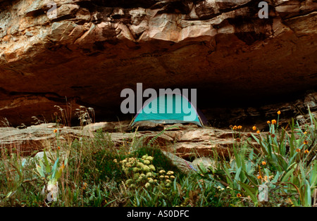
[[(182, 130), (113, 132), (116, 122), (97, 122), (85, 127), (63, 127), (55, 123), (33, 125), (24, 129), (14, 127), (0, 128), (0, 146), (16, 149), (23, 155), (34, 155), (47, 147), (55, 147), (63, 142), (86, 137), (94, 139), (96, 133), (104, 133), (105, 139), (113, 145), (156, 145), (163, 151), (174, 153), (181, 158), (210, 156), (213, 151), (226, 154), (234, 141), (231, 130), (218, 130), (212, 127), (192, 127), (183, 125)], [(121, 123), (121, 128), (128, 128)], [(168, 126), (170, 128), (170, 125)], [(173, 129), (175, 127), (172, 127)], [(245, 133), (242, 136), (247, 137)], [(129, 144), (130, 142), (130, 144)], [(137, 143), (136, 143), (137, 142)]]

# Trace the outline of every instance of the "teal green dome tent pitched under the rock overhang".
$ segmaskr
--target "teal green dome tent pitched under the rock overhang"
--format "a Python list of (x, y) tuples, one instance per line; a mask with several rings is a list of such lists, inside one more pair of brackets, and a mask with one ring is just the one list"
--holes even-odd
[(182, 94), (163, 94), (148, 100), (135, 115), (132, 126), (139, 121), (167, 124), (192, 122), (200, 127), (207, 124), (201, 111)]

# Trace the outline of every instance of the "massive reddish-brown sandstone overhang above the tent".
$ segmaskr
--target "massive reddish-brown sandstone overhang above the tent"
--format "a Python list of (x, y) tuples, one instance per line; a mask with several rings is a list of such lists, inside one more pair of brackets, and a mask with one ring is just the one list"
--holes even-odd
[[(0, 1), (0, 116), (50, 120), (55, 105), (120, 111), (120, 91), (196, 88), (245, 101), (317, 85), (315, 0)], [(67, 102), (65, 101), (67, 98)], [(199, 103), (200, 102), (200, 103)]]

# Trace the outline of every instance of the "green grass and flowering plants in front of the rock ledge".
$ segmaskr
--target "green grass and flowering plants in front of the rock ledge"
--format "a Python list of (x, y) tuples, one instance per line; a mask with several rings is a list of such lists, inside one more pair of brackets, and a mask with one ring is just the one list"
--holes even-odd
[(254, 127), (247, 139), (232, 127), (229, 156), (215, 153), (212, 168), (189, 174), (155, 146), (156, 137), (116, 146), (101, 131), (61, 141), (56, 130), (42, 158), (1, 149), (0, 206), (316, 205), (316, 118), (287, 127), (278, 121), (268, 122), (268, 132)]

